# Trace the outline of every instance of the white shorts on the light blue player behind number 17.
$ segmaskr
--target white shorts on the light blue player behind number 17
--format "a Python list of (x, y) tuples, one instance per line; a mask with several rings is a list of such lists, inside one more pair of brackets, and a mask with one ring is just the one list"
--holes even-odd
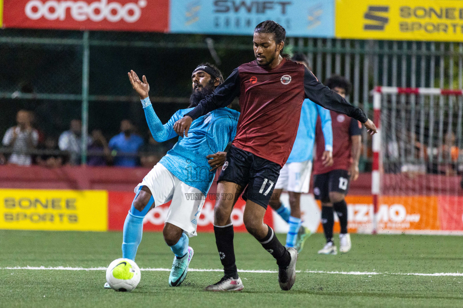
[(312, 161), (285, 163), (280, 170), (275, 189), (284, 189), (294, 193), (308, 193)]

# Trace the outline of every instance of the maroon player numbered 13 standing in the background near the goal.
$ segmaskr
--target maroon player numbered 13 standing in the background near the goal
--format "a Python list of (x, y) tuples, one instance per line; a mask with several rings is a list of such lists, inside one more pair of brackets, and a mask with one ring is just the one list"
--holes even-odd
[[(342, 76), (332, 76), (325, 84), (345, 97), (352, 88), (350, 82)], [(313, 193), (315, 199), (321, 200), (321, 221), (325, 232), (326, 244), (319, 250), (319, 254), (337, 254), (333, 243), (333, 210), (336, 211), (341, 232), (339, 233), (339, 250), (346, 253), (350, 250), (350, 235), (347, 233), (347, 204), (344, 200), (349, 191), (350, 180), (358, 178), (358, 160), (362, 144), (362, 124), (336, 111), (331, 111), (333, 128), (333, 161), (332, 166), (322, 164), (325, 139), (321, 130), (320, 119), (315, 129), (315, 143), (317, 145), (316, 159), (313, 164)]]

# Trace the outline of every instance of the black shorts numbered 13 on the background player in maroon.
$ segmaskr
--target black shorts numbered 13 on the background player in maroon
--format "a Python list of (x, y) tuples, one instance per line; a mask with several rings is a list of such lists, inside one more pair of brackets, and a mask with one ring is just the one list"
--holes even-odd
[(347, 170), (337, 169), (321, 175), (315, 175), (313, 194), (315, 199), (330, 202), (330, 192), (347, 194), (349, 192), (350, 176)]

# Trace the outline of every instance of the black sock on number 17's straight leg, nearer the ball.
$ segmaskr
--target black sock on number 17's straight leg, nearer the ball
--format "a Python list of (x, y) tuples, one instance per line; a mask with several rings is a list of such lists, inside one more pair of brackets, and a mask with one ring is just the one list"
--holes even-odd
[(238, 279), (235, 264), (235, 249), (233, 248), (233, 225), (225, 227), (214, 226), (215, 244), (219, 250), (220, 262), (224, 266), (225, 276)]

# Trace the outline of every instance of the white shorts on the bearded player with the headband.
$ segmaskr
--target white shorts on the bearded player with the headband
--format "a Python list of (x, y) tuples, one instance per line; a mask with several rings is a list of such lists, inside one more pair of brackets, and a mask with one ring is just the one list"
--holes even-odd
[(135, 187), (146, 186), (153, 195), (154, 205), (159, 206), (172, 200), (167, 211), (166, 223), (181, 228), (188, 236), (196, 236), (196, 226), (206, 198), (198, 188), (180, 181), (161, 163), (151, 169), (143, 181)]

